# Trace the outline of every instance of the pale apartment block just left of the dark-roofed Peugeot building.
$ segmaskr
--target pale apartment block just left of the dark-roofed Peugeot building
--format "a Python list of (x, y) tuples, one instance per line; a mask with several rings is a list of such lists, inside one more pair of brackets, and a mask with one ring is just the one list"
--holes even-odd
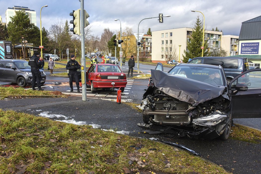
[(239, 36), (235, 35), (222, 35), (221, 37), (221, 47), (228, 52), (227, 56), (238, 55), (238, 40)]

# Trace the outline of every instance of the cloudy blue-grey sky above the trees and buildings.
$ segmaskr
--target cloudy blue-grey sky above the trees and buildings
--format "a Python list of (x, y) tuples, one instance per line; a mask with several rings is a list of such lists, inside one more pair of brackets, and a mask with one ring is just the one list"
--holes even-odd
[[(70, 12), (80, 9), (79, 0), (0, 0), (0, 16), (5, 22), (5, 11), (8, 7), (24, 6), (36, 11), (37, 26), (40, 28), (40, 9), (42, 27), (49, 29), (57, 20), (72, 20)], [(201, 11), (205, 16), (205, 28), (211, 30), (218, 27), (224, 35), (239, 35), (241, 23), (260, 16), (260, 0), (92, 0), (84, 1), (84, 9), (89, 13), (87, 19), (90, 22), (94, 34), (99, 36), (104, 28), (110, 28), (112, 32), (120, 30), (121, 20), (122, 31), (131, 27), (137, 33), (138, 24), (144, 18), (157, 17), (159, 13), (171, 15), (164, 17), (159, 23), (158, 18), (143, 20), (139, 25), (139, 33), (147, 33), (148, 28), (152, 31), (192, 27), (199, 15), (191, 10)], [(72, 24), (70, 24), (72, 27)]]

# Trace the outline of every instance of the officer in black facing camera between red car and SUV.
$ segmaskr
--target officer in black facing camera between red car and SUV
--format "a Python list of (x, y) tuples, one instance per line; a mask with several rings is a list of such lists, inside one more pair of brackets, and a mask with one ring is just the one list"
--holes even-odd
[(70, 88), (71, 88), (70, 91), (73, 92), (73, 79), (74, 79), (75, 82), (76, 82), (76, 86), (77, 86), (77, 92), (80, 92), (79, 79), (78, 79), (78, 75), (77, 75), (77, 69), (80, 69), (81, 66), (74, 59), (75, 59), (75, 56), (71, 55), (71, 60), (69, 60), (69, 62), (66, 65), (66, 69), (69, 70), (69, 84), (70, 84)]

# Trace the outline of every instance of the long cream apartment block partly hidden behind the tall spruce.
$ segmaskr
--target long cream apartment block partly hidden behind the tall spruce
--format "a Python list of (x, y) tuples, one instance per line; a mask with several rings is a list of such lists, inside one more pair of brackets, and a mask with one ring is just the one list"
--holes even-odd
[[(190, 41), (189, 36), (192, 34), (193, 28), (173, 28), (160, 31), (152, 31), (152, 62), (166, 62), (165, 58), (169, 55), (167, 52), (176, 49), (176, 55), (180, 62), (183, 59), (182, 54), (187, 50), (187, 40)], [(222, 32), (205, 30), (205, 42), (208, 43), (208, 48), (221, 47)], [(179, 45), (180, 53), (179, 53)], [(179, 61), (177, 59), (177, 61)]]

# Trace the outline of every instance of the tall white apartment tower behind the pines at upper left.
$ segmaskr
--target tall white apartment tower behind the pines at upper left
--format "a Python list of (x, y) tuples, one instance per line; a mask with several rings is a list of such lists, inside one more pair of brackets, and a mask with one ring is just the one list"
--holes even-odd
[(15, 11), (17, 10), (25, 10), (25, 13), (29, 15), (29, 19), (31, 23), (33, 23), (36, 26), (36, 12), (34, 10), (29, 9), (28, 7), (21, 7), (21, 6), (14, 6), (14, 7), (8, 7), (8, 9), (5, 11), (5, 21), (8, 24), (8, 22), (11, 21), (12, 16), (15, 15)]

